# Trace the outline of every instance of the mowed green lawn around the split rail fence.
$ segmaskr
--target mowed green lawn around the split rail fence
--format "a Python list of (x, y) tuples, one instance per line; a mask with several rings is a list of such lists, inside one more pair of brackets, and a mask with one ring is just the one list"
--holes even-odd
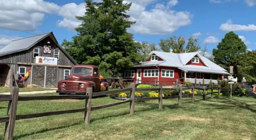
[[(38, 95), (38, 94), (37, 94)], [(44, 94), (45, 95), (45, 94)], [(53, 95), (57, 95), (54, 93)], [(117, 102), (107, 97), (93, 98), (93, 106)], [(85, 100), (19, 101), (17, 114), (78, 109)], [(6, 115), (7, 102), (0, 102), (0, 115)], [(214, 98), (196, 96), (129, 103), (91, 112), (90, 125), (84, 113), (17, 120), (15, 140), (256, 140), (255, 98)], [(5, 123), (0, 123), (3, 139)]]

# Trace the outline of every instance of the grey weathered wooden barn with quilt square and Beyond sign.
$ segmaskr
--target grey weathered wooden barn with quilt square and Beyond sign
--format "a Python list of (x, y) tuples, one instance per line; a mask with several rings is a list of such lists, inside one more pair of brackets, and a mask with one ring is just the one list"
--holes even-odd
[(11, 87), (17, 73), (25, 76), (30, 70), (26, 84), (57, 87), (58, 81), (65, 79), (75, 64), (52, 32), (17, 39), (0, 50), (0, 86)]

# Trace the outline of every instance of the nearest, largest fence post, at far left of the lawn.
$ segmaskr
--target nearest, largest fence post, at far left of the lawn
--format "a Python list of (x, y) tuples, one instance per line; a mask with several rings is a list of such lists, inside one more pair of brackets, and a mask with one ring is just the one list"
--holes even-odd
[(12, 87), (10, 94), (12, 96), (12, 101), (9, 101), (9, 106), (8, 106), (9, 122), (6, 122), (6, 129), (5, 129), (5, 135), (4, 135), (5, 140), (12, 140), (13, 138), (16, 113), (17, 113), (17, 104), (18, 104), (18, 98), (19, 98), (19, 87)]

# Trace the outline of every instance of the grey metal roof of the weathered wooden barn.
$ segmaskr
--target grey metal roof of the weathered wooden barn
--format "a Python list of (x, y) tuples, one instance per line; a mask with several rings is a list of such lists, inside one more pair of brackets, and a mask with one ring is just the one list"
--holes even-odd
[(53, 42), (56, 43), (58, 48), (61, 51), (63, 51), (74, 64), (77, 64), (77, 62), (61, 47), (61, 45), (58, 44), (58, 41), (55, 39), (55, 36), (53, 35), (52, 32), (31, 36), (23, 39), (13, 40), (9, 44), (7, 44), (5, 47), (0, 49), (0, 56), (6, 56), (12, 53), (21, 52), (23, 50), (29, 50), (31, 47), (33, 47), (38, 42), (40, 42), (41, 40), (45, 39), (48, 36), (52, 39)]

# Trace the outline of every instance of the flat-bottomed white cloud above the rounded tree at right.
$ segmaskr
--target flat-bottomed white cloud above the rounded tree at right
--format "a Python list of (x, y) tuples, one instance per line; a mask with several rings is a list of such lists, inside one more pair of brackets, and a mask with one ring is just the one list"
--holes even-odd
[(227, 20), (226, 23), (221, 24), (221, 31), (256, 31), (256, 25), (239, 25), (233, 24), (231, 20)]

